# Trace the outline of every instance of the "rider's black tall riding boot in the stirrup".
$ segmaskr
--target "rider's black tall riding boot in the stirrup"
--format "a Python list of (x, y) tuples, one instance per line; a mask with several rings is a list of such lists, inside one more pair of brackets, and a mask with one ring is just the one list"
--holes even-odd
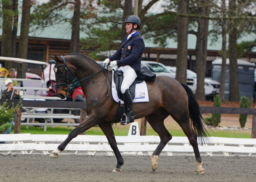
[[(132, 96), (128, 88), (124, 92), (124, 107), (126, 109), (127, 124), (134, 122), (134, 115), (132, 114)], [(120, 121), (120, 123), (121, 125), (126, 125), (126, 121)]]

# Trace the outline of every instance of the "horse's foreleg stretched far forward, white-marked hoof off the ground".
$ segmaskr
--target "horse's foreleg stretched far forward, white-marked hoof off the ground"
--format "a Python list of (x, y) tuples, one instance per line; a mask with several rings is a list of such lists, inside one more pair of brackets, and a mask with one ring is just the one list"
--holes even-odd
[(66, 140), (64, 140), (64, 142), (62, 142), (62, 144), (60, 144), (58, 146), (58, 148), (56, 148), (54, 151), (52, 151), (52, 153), (50, 154), (50, 157), (52, 158), (58, 158), (60, 156), (60, 152), (62, 152), (66, 146), (68, 145), (68, 143), (75, 138), (76, 136), (78, 136), (80, 133), (92, 128), (92, 126), (95, 126), (97, 123), (95, 121), (95, 118), (91, 115), (88, 116), (85, 120), (83, 120), (82, 123), (80, 123), (74, 130), (72, 130), (69, 134), (68, 134), (68, 138), (66, 138)]

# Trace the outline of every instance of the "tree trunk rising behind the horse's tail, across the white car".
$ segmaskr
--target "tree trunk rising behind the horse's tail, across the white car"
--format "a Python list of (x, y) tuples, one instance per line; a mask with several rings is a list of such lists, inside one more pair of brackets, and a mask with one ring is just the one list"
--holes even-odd
[[(201, 1), (205, 4), (204, 0)], [(206, 6), (198, 8), (199, 14), (202, 16), (209, 15), (209, 9)], [(204, 78), (206, 72), (206, 59), (207, 59), (207, 38), (208, 38), (208, 23), (207, 19), (198, 19), (198, 30), (196, 34), (196, 98), (198, 100), (205, 100), (204, 91)]]

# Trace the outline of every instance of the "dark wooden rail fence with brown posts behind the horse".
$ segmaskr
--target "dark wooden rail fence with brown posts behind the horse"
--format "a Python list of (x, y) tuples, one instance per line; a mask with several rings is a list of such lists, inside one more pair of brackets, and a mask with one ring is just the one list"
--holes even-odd
[[(0, 105), (6, 100), (0, 99)], [(7, 100), (7, 106), (12, 103), (17, 104), (19, 100)], [(80, 109), (80, 122), (86, 116), (85, 102), (68, 102), (68, 101), (38, 101), (38, 100), (22, 100), (24, 107), (42, 107), (42, 108), (76, 108)], [(209, 107), (200, 106), (204, 113), (220, 113), (220, 114), (252, 114), (252, 138), (256, 138), (256, 108), (228, 108), (228, 107)], [(14, 133), (20, 133), (20, 116), (21, 110), (15, 114)], [(141, 135), (146, 134), (146, 119), (141, 120)]]

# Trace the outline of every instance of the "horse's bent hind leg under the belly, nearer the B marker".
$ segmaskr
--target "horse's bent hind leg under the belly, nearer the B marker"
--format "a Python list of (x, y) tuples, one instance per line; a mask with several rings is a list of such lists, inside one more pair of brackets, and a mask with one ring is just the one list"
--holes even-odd
[(151, 167), (153, 171), (155, 171), (159, 166), (159, 163), (157, 162), (158, 156), (160, 155), (166, 144), (172, 139), (172, 135), (164, 126), (164, 119), (168, 115), (169, 114), (166, 111), (163, 111), (160, 115), (151, 114), (149, 116), (146, 116), (148, 123), (160, 137), (160, 143), (151, 155)]

